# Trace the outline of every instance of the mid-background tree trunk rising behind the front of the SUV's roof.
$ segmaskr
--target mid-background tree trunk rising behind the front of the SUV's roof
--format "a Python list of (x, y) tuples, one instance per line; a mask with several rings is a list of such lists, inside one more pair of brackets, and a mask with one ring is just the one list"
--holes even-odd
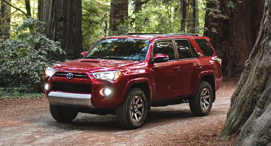
[(118, 30), (118, 25), (128, 16), (129, 0), (111, 0), (109, 29), (111, 35)]

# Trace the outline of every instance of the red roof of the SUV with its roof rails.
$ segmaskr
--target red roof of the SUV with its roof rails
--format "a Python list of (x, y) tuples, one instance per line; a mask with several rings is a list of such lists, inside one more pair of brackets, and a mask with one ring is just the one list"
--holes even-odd
[(205, 36), (192, 36), (192, 35), (175, 35), (175, 36), (166, 36), (166, 35), (118, 35), (118, 36), (109, 36), (105, 37), (104, 39), (108, 38), (132, 38), (132, 39), (189, 39), (189, 38), (197, 38), (197, 39), (208, 39)]

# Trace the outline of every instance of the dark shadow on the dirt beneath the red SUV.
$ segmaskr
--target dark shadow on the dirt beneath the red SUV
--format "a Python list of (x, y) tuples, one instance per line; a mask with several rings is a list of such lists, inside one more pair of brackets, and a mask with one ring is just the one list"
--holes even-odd
[[(172, 109), (151, 109), (147, 113), (144, 122), (144, 127), (149, 124), (158, 124), (163, 126), (165, 122), (172, 120), (184, 120), (188, 117), (193, 117), (190, 110), (172, 110)], [(93, 115), (93, 114), (78, 114), (78, 117), (71, 123), (59, 123), (55, 120), (48, 121), (49, 125), (56, 126), (59, 129), (65, 130), (92, 130), (92, 131), (123, 131), (123, 128), (117, 122), (116, 115)], [(161, 125), (159, 125), (159, 122)]]

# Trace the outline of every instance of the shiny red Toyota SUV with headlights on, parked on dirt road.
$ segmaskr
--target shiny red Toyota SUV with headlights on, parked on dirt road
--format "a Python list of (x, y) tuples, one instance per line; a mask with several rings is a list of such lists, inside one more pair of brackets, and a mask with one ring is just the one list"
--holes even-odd
[(50, 112), (59, 122), (78, 112), (116, 114), (126, 129), (139, 128), (151, 106), (189, 102), (195, 116), (206, 116), (222, 81), (209, 40), (173, 33), (102, 38), (82, 59), (46, 69)]

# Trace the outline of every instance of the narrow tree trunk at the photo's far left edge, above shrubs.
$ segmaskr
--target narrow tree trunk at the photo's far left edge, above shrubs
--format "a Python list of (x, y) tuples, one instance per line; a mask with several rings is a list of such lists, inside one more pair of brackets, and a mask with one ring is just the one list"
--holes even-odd
[[(11, 2), (11, 0), (7, 0)], [(10, 30), (10, 17), (8, 16), (11, 13), (11, 8), (4, 1), (1, 1), (0, 5), (0, 38), (7, 39), (9, 38), (8, 31)]]

